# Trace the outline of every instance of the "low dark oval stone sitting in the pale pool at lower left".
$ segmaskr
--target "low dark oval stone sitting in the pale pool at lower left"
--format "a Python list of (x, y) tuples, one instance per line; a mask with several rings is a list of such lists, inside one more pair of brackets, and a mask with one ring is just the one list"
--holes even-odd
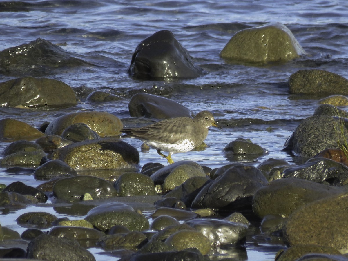
[(48, 228), (57, 217), (46, 212), (27, 212), (17, 217), (17, 224), (23, 227)]

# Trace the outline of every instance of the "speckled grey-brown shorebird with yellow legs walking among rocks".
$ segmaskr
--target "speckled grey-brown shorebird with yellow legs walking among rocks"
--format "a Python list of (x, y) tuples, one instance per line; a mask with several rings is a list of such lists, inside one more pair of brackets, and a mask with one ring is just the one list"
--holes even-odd
[[(171, 118), (137, 129), (121, 129), (121, 132), (126, 133), (122, 137), (135, 137), (157, 149), (157, 153), (172, 164), (174, 161), (171, 156), (190, 151), (200, 145), (206, 139), (210, 126), (221, 128), (215, 122), (212, 113), (201, 111), (193, 119)], [(168, 156), (161, 151), (168, 152)]]

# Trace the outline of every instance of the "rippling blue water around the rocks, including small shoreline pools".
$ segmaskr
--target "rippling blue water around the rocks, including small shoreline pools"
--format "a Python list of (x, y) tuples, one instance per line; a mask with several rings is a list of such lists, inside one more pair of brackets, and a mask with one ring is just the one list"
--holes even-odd
[[(211, 128), (203, 151), (173, 156), (175, 161), (193, 160), (211, 168), (231, 161), (257, 165), (267, 158), (297, 161), (283, 145), (301, 119), (311, 116), (321, 97), (289, 95), (287, 80), (300, 69), (317, 68), (348, 78), (348, 5), (337, 1), (22, 1), (0, 2), (0, 49), (48, 40), (83, 60), (81, 66), (27, 68), (23, 73), (0, 71), (0, 82), (31, 75), (61, 80), (71, 87), (89, 87), (124, 96), (148, 92), (171, 98), (195, 113), (212, 111), (223, 129)], [(306, 51), (286, 64), (254, 67), (228, 64), (219, 52), (231, 36), (242, 29), (268, 22), (285, 24)], [(170, 30), (190, 52), (197, 65), (207, 71), (190, 80), (138, 80), (127, 69), (136, 46), (159, 30)], [(83, 110), (107, 111), (128, 118), (126, 103), (92, 103), (82, 100), (76, 107), (60, 110), (0, 108), (0, 119), (15, 118), (39, 127), (56, 113)], [(228, 158), (222, 149), (238, 137), (249, 138), (269, 153), (245, 159)], [(140, 151), (140, 166), (148, 162), (166, 164), (155, 150), (142, 152), (141, 142), (128, 142)], [(8, 143), (0, 142), (0, 151)], [(27, 174), (7, 174), (0, 168), (0, 183), (22, 181), (36, 187)], [(43, 206), (42, 206), (43, 207)], [(1, 225), (22, 232), (15, 219), (31, 208), (1, 215)], [(45, 208), (45, 207), (44, 207)], [(45, 208), (45, 211), (55, 211)], [(61, 216), (60, 214), (57, 214)], [(69, 218), (76, 218), (71, 217)], [(277, 250), (268, 243), (246, 244), (249, 260), (274, 260)], [(258, 241), (260, 243), (260, 240)], [(93, 253), (99, 249), (91, 250)], [(97, 254), (95, 254), (98, 256)], [(100, 257), (101, 258), (101, 257)], [(103, 256), (102, 258), (106, 258)], [(105, 260), (105, 259), (104, 259)]]

